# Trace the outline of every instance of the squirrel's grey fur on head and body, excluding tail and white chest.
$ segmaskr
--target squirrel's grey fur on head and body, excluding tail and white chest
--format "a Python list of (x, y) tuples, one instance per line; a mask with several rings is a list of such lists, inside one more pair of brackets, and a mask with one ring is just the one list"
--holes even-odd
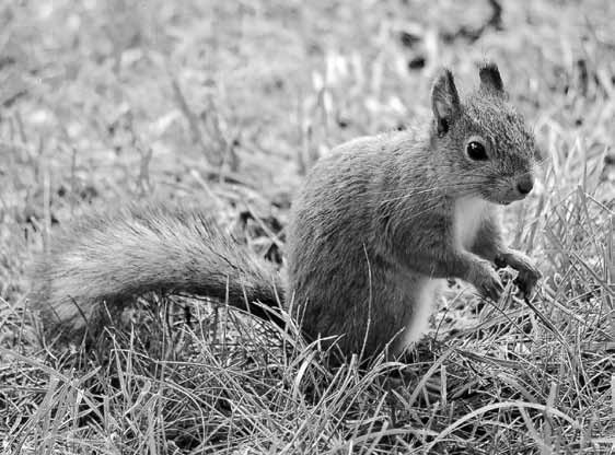
[[(308, 334), (340, 335), (346, 352), (385, 348), (419, 312), (417, 292), (430, 278), (461, 278), (497, 298), (491, 262), (518, 257), (502, 242), (495, 203), (523, 197), (515, 183), (533, 173), (531, 132), (497, 91), (483, 88), (457, 109), (449, 71), (432, 96), (431, 126), (338, 147), (316, 163), (294, 201), (288, 295)], [(489, 161), (464, 155), (473, 136), (489, 145)], [(467, 196), (495, 202), (471, 250), (452, 241), (454, 203)], [(526, 268), (535, 283), (537, 270)]]

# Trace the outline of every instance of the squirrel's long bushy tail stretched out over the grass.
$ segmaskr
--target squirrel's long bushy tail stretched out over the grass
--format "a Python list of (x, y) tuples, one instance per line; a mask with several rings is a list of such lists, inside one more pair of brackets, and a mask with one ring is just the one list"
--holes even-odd
[(210, 296), (281, 320), (277, 272), (225, 235), (202, 211), (162, 205), (90, 214), (54, 238), (34, 268), (30, 301), (46, 328), (85, 328), (103, 303), (147, 292)]

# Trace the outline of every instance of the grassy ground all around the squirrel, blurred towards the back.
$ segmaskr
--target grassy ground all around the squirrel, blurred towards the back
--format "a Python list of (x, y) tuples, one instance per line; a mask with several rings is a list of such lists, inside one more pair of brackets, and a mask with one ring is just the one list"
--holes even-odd
[[(3, 453), (615, 453), (615, 5), (463, 3), (2, 2)], [(468, 86), (486, 56), (548, 156), (507, 223), (545, 275), (532, 306), (452, 292), (416, 363), (367, 371), (164, 299), (104, 350), (42, 342), (26, 271), (56, 224), (185, 200), (277, 260), (320, 154), (428, 115), (436, 69)]]

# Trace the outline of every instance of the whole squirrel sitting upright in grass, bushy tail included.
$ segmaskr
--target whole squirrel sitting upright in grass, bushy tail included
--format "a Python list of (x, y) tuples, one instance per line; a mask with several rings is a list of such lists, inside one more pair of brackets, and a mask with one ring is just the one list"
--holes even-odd
[(151, 291), (219, 299), (279, 325), (267, 307), (287, 307), (305, 337), (335, 336), (344, 354), (371, 357), (423, 335), (446, 278), (497, 301), (494, 265), (510, 266), (530, 293), (541, 272), (506, 245), (499, 209), (530, 194), (541, 155), (498, 67), (483, 62), (478, 75), (461, 100), (440, 70), (432, 116), (314, 164), (291, 207), (283, 275), (202, 210), (132, 205), (57, 236), (35, 266), (31, 302), (69, 332), (94, 324), (104, 303)]

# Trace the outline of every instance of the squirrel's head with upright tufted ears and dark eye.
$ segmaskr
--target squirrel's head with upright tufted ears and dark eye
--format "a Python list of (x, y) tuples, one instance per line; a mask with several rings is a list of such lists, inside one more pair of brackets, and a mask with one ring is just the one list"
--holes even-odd
[(433, 150), (450, 170), (451, 191), (495, 203), (523, 199), (534, 186), (539, 154), (534, 135), (508, 102), (498, 67), (479, 67), (479, 88), (460, 101), (444, 69), (431, 90)]

